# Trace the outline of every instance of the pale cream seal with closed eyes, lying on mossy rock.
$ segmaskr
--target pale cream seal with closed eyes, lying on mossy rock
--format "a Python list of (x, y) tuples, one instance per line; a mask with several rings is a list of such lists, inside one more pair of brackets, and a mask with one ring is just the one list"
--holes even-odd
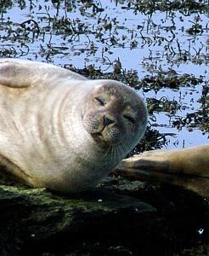
[(126, 84), (0, 60), (0, 163), (31, 187), (93, 187), (135, 147), (146, 124), (144, 101)]

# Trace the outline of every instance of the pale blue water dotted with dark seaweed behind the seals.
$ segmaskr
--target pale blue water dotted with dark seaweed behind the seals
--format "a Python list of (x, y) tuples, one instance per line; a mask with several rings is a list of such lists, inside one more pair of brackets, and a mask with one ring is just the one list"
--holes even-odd
[[(140, 92), (144, 98), (166, 96), (178, 102), (175, 113), (155, 111), (151, 116), (155, 129), (176, 134), (167, 137), (168, 148), (207, 143), (208, 131), (194, 124), (172, 127), (172, 121), (201, 110), (202, 88), (208, 88), (209, 28), (204, 4), (207, 1), (190, 7), (166, 1), (152, 7), (125, 0), (9, 1), (1, 3), (0, 55), (77, 68), (93, 65), (102, 72), (112, 72), (119, 60), (123, 70), (136, 70), (140, 79), (168, 71), (201, 77), (201, 84)], [(207, 93), (207, 111), (208, 97)]]

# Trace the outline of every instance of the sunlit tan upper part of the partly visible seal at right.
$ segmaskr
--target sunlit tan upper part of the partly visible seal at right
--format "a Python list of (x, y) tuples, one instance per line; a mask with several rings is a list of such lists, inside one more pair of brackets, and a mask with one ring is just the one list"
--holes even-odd
[[(120, 167), (121, 166), (121, 167)], [(172, 150), (151, 150), (122, 160), (118, 168), (209, 177), (209, 144)]]

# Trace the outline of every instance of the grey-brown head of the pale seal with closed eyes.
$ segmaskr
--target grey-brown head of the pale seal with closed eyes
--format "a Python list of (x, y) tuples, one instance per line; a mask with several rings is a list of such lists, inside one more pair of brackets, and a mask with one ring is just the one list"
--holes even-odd
[(121, 157), (144, 135), (147, 110), (135, 90), (113, 80), (96, 80), (83, 115), (85, 130), (101, 148), (120, 148)]

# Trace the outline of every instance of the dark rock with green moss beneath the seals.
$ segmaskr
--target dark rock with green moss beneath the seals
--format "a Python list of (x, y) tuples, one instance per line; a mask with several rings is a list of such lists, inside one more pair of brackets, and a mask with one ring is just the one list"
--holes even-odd
[(120, 177), (79, 195), (4, 183), (0, 255), (174, 255), (208, 208), (188, 191), (167, 189)]

